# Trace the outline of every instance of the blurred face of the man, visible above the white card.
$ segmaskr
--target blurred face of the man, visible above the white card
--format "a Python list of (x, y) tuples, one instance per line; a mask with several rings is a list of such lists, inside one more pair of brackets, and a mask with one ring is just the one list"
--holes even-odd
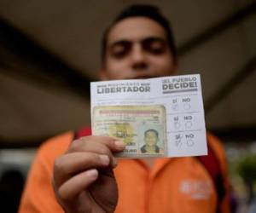
[(176, 64), (166, 32), (154, 20), (120, 20), (108, 33), (102, 80), (152, 78), (172, 75)]

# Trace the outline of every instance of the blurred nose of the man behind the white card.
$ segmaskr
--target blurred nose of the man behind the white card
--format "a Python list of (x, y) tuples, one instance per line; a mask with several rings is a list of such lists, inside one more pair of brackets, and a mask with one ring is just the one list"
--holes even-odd
[(133, 70), (145, 70), (148, 68), (146, 53), (140, 43), (134, 44), (131, 52), (131, 66)]

